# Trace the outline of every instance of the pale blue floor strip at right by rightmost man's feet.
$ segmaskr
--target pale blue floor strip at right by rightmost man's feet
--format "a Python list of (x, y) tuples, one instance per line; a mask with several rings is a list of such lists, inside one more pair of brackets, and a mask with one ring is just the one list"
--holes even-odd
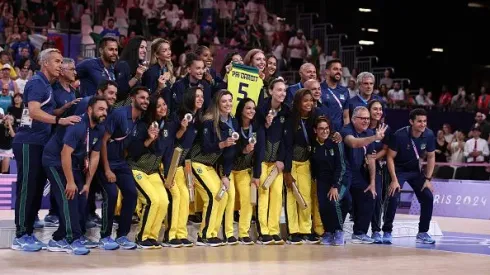
[(490, 235), (456, 232), (443, 233), (444, 236), (435, 237), (435, 245), (418, 244), (414, 238), (393, 238), (393, 246), (490, 255)]

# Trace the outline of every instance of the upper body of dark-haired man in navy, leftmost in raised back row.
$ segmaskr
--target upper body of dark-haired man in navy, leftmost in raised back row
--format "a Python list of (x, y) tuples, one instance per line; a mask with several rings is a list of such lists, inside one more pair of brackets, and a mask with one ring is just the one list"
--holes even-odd
[(116, 38), (108, 36), (99, 42), (100, 58), (87, 59), (76, 67), (80, 79), (80, 94), (85, 96), (94, 95), (97, 85), (104, 80), (116, 80), (114, 64), (118, 58), (118, 43)]

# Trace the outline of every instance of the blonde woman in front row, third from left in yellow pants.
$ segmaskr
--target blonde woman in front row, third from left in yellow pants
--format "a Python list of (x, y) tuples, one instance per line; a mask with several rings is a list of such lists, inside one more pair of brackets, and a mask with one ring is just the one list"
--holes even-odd
[[(239, 136), (238, 123), (231, 116), (233, 95), (218, 91), (203, 118), (199, 140), (191, 151), (195, 188), (202, 197), (203, 218), (197, 237), (199, 246), (221, 246), (219, 224), (228, 201), (230, 174), (235, 157), (235, 144)], [(215, 166), (221, 167), (216, 171)]]

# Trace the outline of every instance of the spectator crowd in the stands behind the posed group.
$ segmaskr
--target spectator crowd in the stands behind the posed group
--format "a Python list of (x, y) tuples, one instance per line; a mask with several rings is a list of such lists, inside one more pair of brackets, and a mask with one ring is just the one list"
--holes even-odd
[[(323, 80), (327, 61), (338, 58), (336, 50), (327, 55), (318, 39), (307, 37), (301, 29), (267, 11), (262, 0), (1, 0), (0, 12), (0, 117), (7, 114), (11, 117), (0, 124), (0, 133), (3, 128), (6, 129), (6, 136), (0, 135), (0, 150), (6, 152), (10, 152), (9, 142), (15, 135), (14, 131), (9, 131), (10, 126), (20, 119), (24, 86), (39, 70), (38, 53), (57, 46), (49, 39), (37, 45), (31, 41), (31, 37), (34, 34), (47, 36), (48, 30), (76, 33), (81, 32), (85, 21), (90, 22), (91, 26), (102, 25), (98, 35), (117, 37), (120, 53), (128, 41), (137, 35), (149, 40), (165, 38), (172, 44), (172, 62), (177, 77), (185, 73), (185, 54), (195, 50), (198, 45), (242, 51), (261, 48), (275, 57), (275, 76), (283, 71), (297, 72), (304, 62), (311, 62), (317, 68), (319, 80)], [(348, 87), (351, 97), (355, 97), (358, 94), (356, 78), (359, 72), (356, 68), (346, 69), (348, 73), (344, 73), (340, 83)], [(465, 87), (460, 86), (453, 93), (444, 85), (441, 91), (435, 93), (439, 94), (437, 99), (433, 91), (422, 87), (415, 91), (403, 87), (402, 83), (392, 78), (389, 69), (376, 86), (374, 93), (391, 108), (424, 106), (441, 111), (479, 111), (469, 133), (452, 132), (449, 125), (439, 131), (438, 136), (444, 136), (444, 142), (442, 138), (438, 139), (440, 149), (437, 161), (459, 163), (481, 159), (469, 156), (465, 148), (471, 147), (474, 138), (490, 142), (490, 123), (486, 119), (490, 95), (486, 87), (467, 92)], [(479, 137), (475, 134), (478, 132)], [(482, 148), (482, 156), (487, 159), (488, 143), (482, 142), (481, 146), (486, 146)], [(6, 172), (6, 169), (2, 168), (2, 172)]]

